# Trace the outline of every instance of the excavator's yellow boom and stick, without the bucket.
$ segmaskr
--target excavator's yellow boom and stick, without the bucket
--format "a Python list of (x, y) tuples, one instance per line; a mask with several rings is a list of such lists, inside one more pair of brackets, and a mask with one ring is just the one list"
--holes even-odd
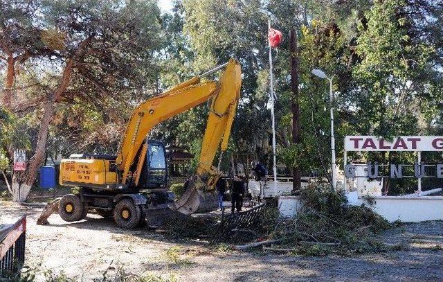
[[(208, 74), (205, 73), (147, 100), (134, 110), (116, 159), (116, 165), (123, 172), (121, 180), (123, 184), (127, 183), (138, 150), (152, 127), (209, 99), (211, 99), (209, 117), (201, 145), (197, 174), (201, 176), (217, 174), (212, 167), (213, 160), (220, 143), (223, 151), (228, 146), (230, 128), (242, 85), (241, 69), (237, 61), (231, 59), (222, 66), (226, 68), (218, 81), (201, 82), (201, 78)], [(218, 69), (220, 67), (215, 70)]]

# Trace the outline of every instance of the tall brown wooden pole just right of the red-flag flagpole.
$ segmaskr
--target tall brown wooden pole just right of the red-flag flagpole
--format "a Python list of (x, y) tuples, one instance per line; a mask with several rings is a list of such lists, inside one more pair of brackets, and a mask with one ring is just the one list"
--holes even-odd
[[(289, 53), (291, 54), (291, 112), (292, 112), (292, 142), (296, 145), (301, 143), (300, 139), (300, 106), (298, 104), (298, 53), (297, 53), (297, 32), (294, 28), (289, 32)], [(301, 187), (300, 168), (292, 168), (292, 191), (295, 192)]]

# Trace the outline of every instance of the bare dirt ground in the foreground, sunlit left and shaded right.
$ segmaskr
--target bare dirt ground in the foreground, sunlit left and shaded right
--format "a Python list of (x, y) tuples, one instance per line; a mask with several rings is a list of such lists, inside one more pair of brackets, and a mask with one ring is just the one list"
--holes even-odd
[[(44, 281), (48, 270), (91, 281), (120, 267), (126, 273), (173, 276), (177, 281), (443, 281), (443, 222), (404, 224), (383, 233), (386, 243), (406, 246), (399, 251), (305, 257), (171, 242), (145, 229), (124, 231), (93, 214), (71, 223), (52, 215), (51, 225), (39, 226), (35, 222), (41, 210), (0, 202), (0, 223), (28, 215), (26, 265), (37, 272), (37, 281)], [(178, 249), (168, 256), (172, 247)]]

